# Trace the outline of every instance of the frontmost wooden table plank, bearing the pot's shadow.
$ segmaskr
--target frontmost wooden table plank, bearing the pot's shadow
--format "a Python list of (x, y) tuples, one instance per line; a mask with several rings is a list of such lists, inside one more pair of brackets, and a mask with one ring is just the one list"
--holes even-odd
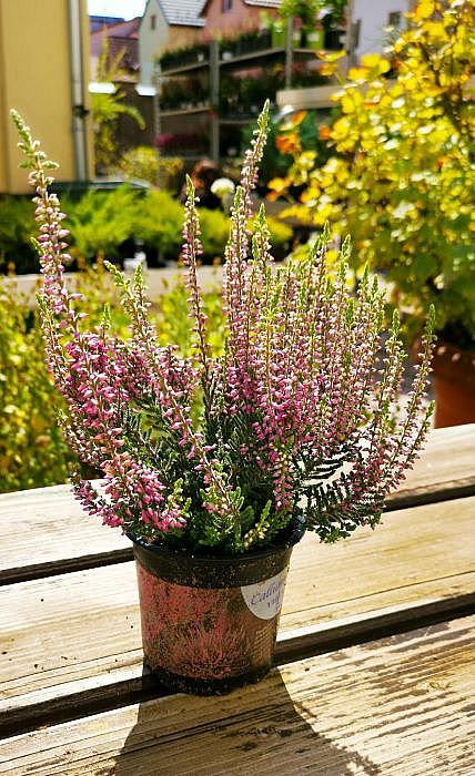
[(173, 695), (0, 743), (6, 776), (468, 776), (475, 617), (285, 665), (225, 697)]

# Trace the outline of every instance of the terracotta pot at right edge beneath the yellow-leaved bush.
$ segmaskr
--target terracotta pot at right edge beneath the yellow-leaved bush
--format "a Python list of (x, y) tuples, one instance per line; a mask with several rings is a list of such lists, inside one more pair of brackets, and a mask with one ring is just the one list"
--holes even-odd
[(435, 427), (475, 422), (475, 353), (439, 343), (433, 370)]

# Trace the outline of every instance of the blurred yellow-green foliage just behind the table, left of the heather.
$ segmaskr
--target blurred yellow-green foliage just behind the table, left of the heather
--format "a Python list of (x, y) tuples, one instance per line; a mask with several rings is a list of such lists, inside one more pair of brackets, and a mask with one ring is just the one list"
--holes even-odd
[[(125, 336), (127, 319), (109, 273), (99, 266), (95, 272), (78, 273), (74, 279), (77, 289), (84, 295), (81, 312), (88, 313), (91, 326), (99, 324), (107, 300), (112, 330)], [(176, 278), (160, 304), (153, 306), (160, 340), (165, 345), (172, 339), (184, 355), (191, 353), (193, 341), (186, 296), (181, 278)], [(213, 325), (211, 346), (220, 353), (223, 343), (220, 292), (206, 292), (204, 304)], [(14, 282), (1, 277), (0, 402), (0, 492), (67, 482), (70, 466), (77, 459), (57, 425), (57, 411), (63, 409), (63, 401), (44, 365), (33, 297), (21, 295)]]

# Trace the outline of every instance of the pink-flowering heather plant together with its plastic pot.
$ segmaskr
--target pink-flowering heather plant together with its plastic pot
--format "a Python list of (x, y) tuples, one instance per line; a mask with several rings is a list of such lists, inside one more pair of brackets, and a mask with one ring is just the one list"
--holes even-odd
[[(212, 357), (198, 282), (200, 226), (188, 182), (183, 262), (194, 357), (160, 347), (142, 274), (109, 269), (131, 320), (114, 337), (108, 310), (93, 330), (64, 284), (64, 215), (52, 166), (14, 114), (36, 187), (39, 295), (48, 366), (68, 411), (67, 440), (99, 482), (73, 472), (84, 509), (134, 547), (145, 662), (172, 687), (226, 692), (272, 664), (285, 573), (303, 532), (324, 542), (376, 525), (384, 498), (414, 461), (431, 321), (404, 413), (394, 416), (404, 354), (395, 315), (364, 275), (345, 283), (348, 243), (333, 274), (323, 235), (304, 261), (274, 267), (265, 213), (247, 231), (269, 122), (245, 155), (225, 249), (224, 353)], [(380, 350), (383, 347), (383, 355)]]

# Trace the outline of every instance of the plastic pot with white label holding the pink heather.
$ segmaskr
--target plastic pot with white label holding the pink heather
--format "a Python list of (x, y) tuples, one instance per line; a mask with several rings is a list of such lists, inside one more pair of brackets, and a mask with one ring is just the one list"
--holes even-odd
[(246, 555), (190, 555), (133, 541), (144, 663), (174, 691), (213, 695), (271, 668), (285, 578), (299, 528), (287, 541)]

